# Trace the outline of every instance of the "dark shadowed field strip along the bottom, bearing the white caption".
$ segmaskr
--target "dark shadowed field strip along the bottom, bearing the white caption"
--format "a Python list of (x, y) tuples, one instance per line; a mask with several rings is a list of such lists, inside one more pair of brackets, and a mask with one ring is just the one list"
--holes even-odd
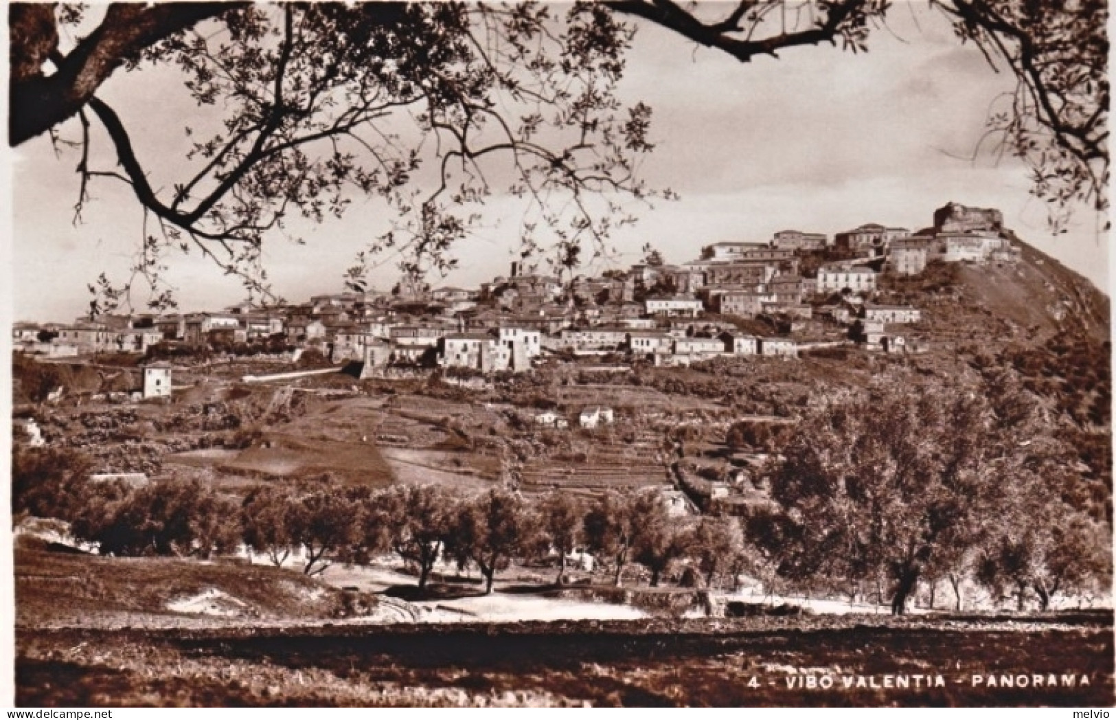
[(1114, 699), (1110, 613), (21, 630), (17, 652), (20, 705), (1088, 707)]

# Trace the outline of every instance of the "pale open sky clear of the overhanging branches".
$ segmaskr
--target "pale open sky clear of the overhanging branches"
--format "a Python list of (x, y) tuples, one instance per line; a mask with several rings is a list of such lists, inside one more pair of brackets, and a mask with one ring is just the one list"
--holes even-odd
[[(1078, 211), (1070, 231), (1051, 238), (1046, 209), (1028, 194), (1018, 163), (998, 162), (990, 152), (960, 159), (972, 154), (990, 104), (1013, 79), (994, 74), (924, 6), (897, 3), (889, 27), (873, 33), (867, 54), (807, 47), (741, 64), (639, 23), (620, 95), (654, 111), (656, 150), (643, 176), (682, 199), (639, 211), (637, 225), (616, 233), (623, 261), (638, 260), (647, 242), (667, 261), (682, 262), (703, 244), (766, 241), (782, 229), (833, 236), (879, 222), (914, 230), (952, 200), (999, 208), (1020, 237), (1107, 291), (1107, 238), (1098, 237), (1095, 213)], [(98, 93), (121, 113), (156, 181), (164, 181), (164, 167), (153, 160), (155, 148), (181, 138), (183, 118), (196, 113), (174, 80), (147, 69), (118, 71)], [(76, 122), (65, 131), (74, 136)], [(142, 213), (121, 183), (94, 185), (95, 201), (83, 222), (73, 223), (77, 162), (75, 151), (56, 157), (46, 137), (13, 157), (13, 319), (73, 320), (87, 307), (86, 286), (102, 271), (125, 279), (138, 247)], [(165, 177), (171, 181), (173, 174)], [(484, 211), (484, 228), (456, 250), (460, 268), (430, 278), (432, 285), (475, 286), (507, 272), (521, 208), (503, 196)], [(266, 258), (276, 291), (292, 301), (339, 291), (354, 255), (387, 220), (382, 203), (357, 199), (341, 220), (298, 227), (306, 246), (270, 238)], [(182, 310), (243, 298), (237, 280), (196, 253), (172, 256), (172, 265)], [(373, 280), (389, 288), (393, 265)]]

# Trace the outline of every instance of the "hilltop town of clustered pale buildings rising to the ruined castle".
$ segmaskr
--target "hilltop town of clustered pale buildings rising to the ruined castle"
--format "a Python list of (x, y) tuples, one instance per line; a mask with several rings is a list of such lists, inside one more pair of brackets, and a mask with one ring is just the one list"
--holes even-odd
[[(1019, 256), (999, 211), (951, 202), (917, 231), (867, 223), (830, 239), (783, 230), (764, 241), (708, 244), (681, 265), (652, 250), (643, 262), (600, 277), (564, 280), (512, 262), (507, 276), (479, 288), (431, 289), (412, 280), (389, 292), (321, 295), (267, 309), (246, 304), (71, 325), (18, 323), (13, 343), (17, 352), (46, 358), (119, 352), (169, 359), (203, 347), (241, 356), (314, 351), (331, 364), (360, 363), (360, 377), (435, 368), (520, 373), (616, 354), (689, 365), (720, 356), (797, 357), (849, 343), (907, 353), (925, 349), (922, 310), (889, 303), (881, 277), (920, 277), (935, 262), (1013, 263)], [(169, 388), (152, 376), (136, 390), (147, 397)]]

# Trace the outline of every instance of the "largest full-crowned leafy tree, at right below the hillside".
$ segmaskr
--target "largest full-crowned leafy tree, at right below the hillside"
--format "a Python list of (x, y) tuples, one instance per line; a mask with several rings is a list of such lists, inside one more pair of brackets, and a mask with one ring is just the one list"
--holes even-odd
[[(1007, 405), (1007, 404), (1004, 404)], [(977, 393), (888, 383), (824, 402), (796, 428), (771, 478), (786, 509), (773, 525), (793, 576), (886, 577), (892, 611), (943, 547), (973, 541), (1000, 490), (1031, 454), (1022, 419), (998, 416)]]

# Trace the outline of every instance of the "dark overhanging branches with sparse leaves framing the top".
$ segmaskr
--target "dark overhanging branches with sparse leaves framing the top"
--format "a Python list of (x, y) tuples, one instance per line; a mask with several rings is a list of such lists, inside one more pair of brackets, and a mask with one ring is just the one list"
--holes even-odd
[[(989, 134), (1029, 164), (1055, 218), (1080, 201), (1105, 208), (1107, 3), (930, 6), (1018, 78)], [(201, 251), (270, 297), (264, 239), (285, 234), (296, 215), (339, 217), (360, 195), (382, 198), (398, 220), (359, 255), (352, 288), (365, 287), (388, 248), (402, 250), (404, 271), (449, 270), (483, 200), (503, 191), (526, 203), (523, 253), (569, 269), (587, 257), (583, 248), (608, 250), (609, 231), (634, 219), (631, 201), (673, 196), (638, 177), (651, 108), (622, 105), (614, 92), (641, 25), (749, 63), (802, 46), (866, 51), (893, 11), (888, 0), (12, 3), (9, 142), (48, 134), (77, 148), (78, 213), (90, 183), (131, 186), (153, 221), (135, 268), (156, 290), (153, 307), (173, 303), (157, 291), (173, 249)], [(160, 186), (148, 180), (156, 161), (133, 146), (136, 118), (98, 97), (109, 77), (152, 65), (176, 67), (213, 119), (182, 128), (190, 171)], [(64, 140), (75, 117), (78, 140)], [(115, 166), (90, 164), (102, 137), (94, 122)], [(103, 280), (95, 309), (131, 285)]]

